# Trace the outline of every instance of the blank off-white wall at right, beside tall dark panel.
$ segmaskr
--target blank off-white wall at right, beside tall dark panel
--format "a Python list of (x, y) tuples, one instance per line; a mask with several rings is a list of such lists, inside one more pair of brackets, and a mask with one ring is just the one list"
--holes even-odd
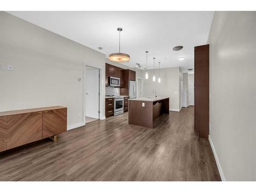
[(256, 180), (256, 12), (216, 12), (209, 33), (210, 140), (222, 179)]

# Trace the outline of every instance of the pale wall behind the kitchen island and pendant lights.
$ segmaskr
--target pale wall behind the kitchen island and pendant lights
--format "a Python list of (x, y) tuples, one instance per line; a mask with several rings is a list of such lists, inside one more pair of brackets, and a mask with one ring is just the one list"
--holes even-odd
[(153, 89), (157, 91), (157, 96), (169, 96), (170, 106), (172, 111), (180, 111), (179, 101), (179, 81), (180, 81), (180, 68), (164, 68), (160, 69), (161, 82), (158, 82), (158, 70), (156, 70), (156, 81), (153, 79), (153, 71), (148, 71), (148, 79), (143, 76), (143, 97), (154, 96)]

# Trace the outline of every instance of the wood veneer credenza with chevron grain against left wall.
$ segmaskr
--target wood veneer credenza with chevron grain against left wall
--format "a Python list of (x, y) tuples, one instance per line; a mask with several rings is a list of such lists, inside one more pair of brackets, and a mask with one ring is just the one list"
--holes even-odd
[(0, 152), (67, 131), (67, 108), (0, 112)]

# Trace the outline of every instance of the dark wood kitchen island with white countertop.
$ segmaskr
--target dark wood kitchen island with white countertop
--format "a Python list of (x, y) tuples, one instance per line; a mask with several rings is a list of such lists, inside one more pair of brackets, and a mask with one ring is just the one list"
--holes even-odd
[(129, 124), (153, 128), (162, 114), (169, 114), (169, 97), (141, 97), (129, 100)]

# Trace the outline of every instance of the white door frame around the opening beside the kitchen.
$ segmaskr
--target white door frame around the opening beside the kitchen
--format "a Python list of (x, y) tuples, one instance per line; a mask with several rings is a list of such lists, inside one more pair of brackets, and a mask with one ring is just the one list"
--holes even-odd
[(83, 125), (86, 124), (86, 66), (88, 67), (92, 67), (92, 68), (95, 68), (95, 69), (99, 69), (99, 74), (100, 74), (100, 78), (99, 78), (99, 119), (104, 119), (104, 105), (103, 105), (103, 89), (105, 88), (104, 86), (104, 82), (103, 82), (103, 76), (102, 76), (102, 71), (103, 69), (102, 68), (99, 68), (99, 67), (95, 67), (95, 66), (92, 66), (90, 64), (86, 64), (86, 63), (83, 63), (83, 83), (82, 83), (82, 95), (83, 95)]

